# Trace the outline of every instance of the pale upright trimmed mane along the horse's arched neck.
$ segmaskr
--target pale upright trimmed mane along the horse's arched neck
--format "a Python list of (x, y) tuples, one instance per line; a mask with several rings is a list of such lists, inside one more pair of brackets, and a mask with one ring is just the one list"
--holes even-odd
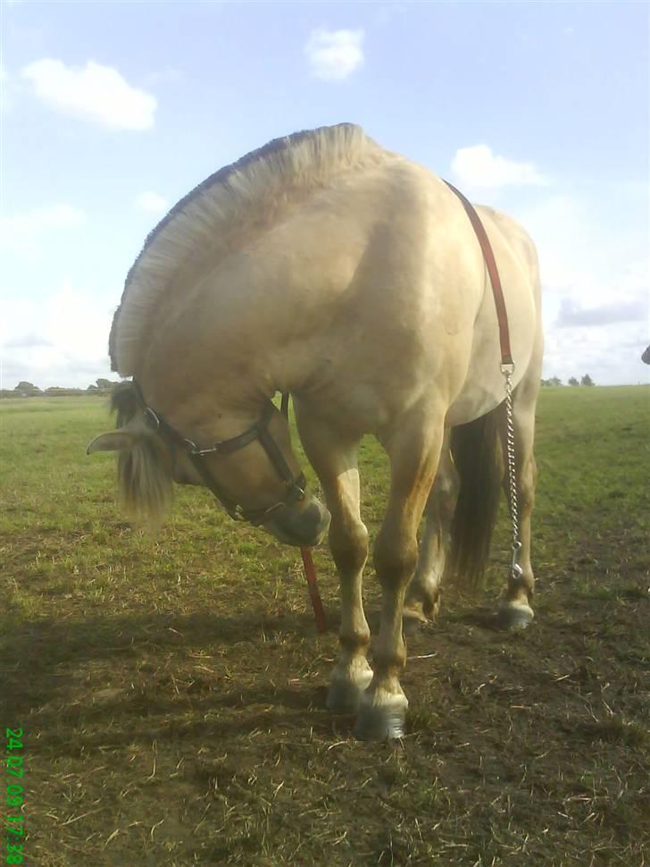
[(220, 169), (181, 198), (149, 233), (127, 274), (109, 339), (112, 370), (133, 375), (147, 320), (184, 265), (207, 255), (218, 262), (246, 220), (269, 223), (301, 191), (384, 154), (352, 123), (296, 132)]

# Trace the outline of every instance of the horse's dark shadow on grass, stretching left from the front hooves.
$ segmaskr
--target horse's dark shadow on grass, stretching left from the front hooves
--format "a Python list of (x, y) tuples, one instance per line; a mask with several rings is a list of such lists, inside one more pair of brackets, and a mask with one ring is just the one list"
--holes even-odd
[[(329, 619), (328, 631), (335, 632), (336, 627), (335, 619)], [(164, 714), (171, 710), (170, 701), (174, 713), (183, 703), (188, 708), (191, 705), (194, 711), (204, 712), (220, 707), (241, 710), (259, 703), (281, 703), (287, 708), (307, 710), (315, 698), (313, 689), (271, 686), (269, 678), (264, 677), (265, 669), (278, 660), (283, 674), (290, 678), (296, 649), (304, 642), (312, 643), (307, 656), (317, 657), (322, 652), (313, 619), (306, 613), (38, 619), (14, 627), (11, 636), (5, 631), (5, 636), (0, 648), (0, 667), (4, 672), (0, 704), (12, 718), (17, 715), (24, 718), (32, 711), (46, 716), (51, 712), (49, 705), (56, 704), (57, 722), (67, 714), (79, 719), (83, 713), (85, 718), (87, 715), (92, 718), (110, 715), (115, 710), (110, 703), (93, 706), (92, 694), (100, 684), (96, 678), (96, 683), (90, 686), (89, 671), (104, 675), (104, 679), (111, 680), (111, 686), (124, 686), (124, 697), (116, 704), (122, 711), (129, 706), (140, 716)], [(240, 665), (237, 665), (237, 645), (241, 645)], [(210, 676), (197, 679), (196, 665), (203, 654), (204, 661), (211, 666), (208, 670), (215, 670)], [(301, 657), (304, 655), (301, 652)], [(304, 666), (302, 659), (300, 664)], [(130, 687), (130, 693), (127, 678), (123, 685), (120, 682), (125, 668), (128, 678), (132, 680), (135, 675), (136, 681), (141, 681)], [(253, 676), (259, 687), (239, 688), (239, 674), (247, 681)], [(181, 698), (174, 678), (185, 687)], [(162, 687), (158, 697), (150, 689), (154, 685)], [(167, 687), (170, 701), (163, 697)], [(221, 694), (213, 692), (215, 689), (221, 689)], [(209, 698), (204, 697), (205, 692), (210, 693)], [(254, 720), (251, 724), (255, 724)]]

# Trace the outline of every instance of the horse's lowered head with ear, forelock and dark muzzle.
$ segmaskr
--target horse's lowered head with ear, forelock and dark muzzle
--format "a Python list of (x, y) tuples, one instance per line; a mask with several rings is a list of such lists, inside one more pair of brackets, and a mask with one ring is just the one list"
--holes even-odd
[(175, 416), (171, 425), (146, 406), (135, 383), (114, 392), (112, 408), (118, 430), (96, 437), (87, 451), (120, 452), (121, 499), (136, 517), (158, 523), (174, 481), (204, 485), (233, 517), (263, 526), (279, 542), (314, 545), (327, 532), (329, 512), (306, 491), (287, 420), (271, 403), (253, 425), (219, 442), (207, 437), (209, 425), (187, 432)]

